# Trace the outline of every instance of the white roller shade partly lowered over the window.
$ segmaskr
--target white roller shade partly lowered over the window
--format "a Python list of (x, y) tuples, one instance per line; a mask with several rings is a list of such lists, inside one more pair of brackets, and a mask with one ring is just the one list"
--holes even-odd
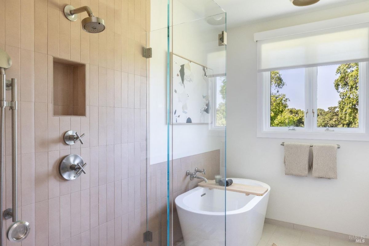
[(258, 72), (367, 61), (369, 23), (309, 32), (299, 30), (298, 34), (258, 40), (257, 46)]

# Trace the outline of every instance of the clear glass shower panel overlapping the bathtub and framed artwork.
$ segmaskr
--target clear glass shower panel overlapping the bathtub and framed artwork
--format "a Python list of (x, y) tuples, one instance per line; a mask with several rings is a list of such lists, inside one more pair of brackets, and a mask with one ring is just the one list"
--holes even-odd
[(198, 184), (225, 177), (226, 49), (219, 38), (226, 14), (213, 1), (200, 6), (173, 1), (172, 22), (171, 240), (173, 245), (225, 245), (225, 189)]

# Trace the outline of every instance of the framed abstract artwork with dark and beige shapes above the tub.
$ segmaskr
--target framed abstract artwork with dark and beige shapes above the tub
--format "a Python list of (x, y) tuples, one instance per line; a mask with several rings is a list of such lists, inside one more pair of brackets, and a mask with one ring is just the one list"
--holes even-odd
[(172, 123), (211, 123), (213, 70), (175, 54), (172, 63)]

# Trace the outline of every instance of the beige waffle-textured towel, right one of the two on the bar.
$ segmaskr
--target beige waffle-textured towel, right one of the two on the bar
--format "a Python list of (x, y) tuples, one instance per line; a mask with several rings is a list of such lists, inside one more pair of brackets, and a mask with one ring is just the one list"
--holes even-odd
[(313, 177), (337, 179), (337, 145), (314, 144)]

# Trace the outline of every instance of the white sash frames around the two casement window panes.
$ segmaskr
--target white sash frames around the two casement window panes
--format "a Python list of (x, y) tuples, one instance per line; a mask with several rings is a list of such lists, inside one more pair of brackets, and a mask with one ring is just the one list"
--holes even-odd
[[(306, 133), (320, 133), (320, 134), (338, 134), (341, 133), (365, 133), (366, 114), (365, 110), (368, 107), (366, 100), (366, 81), (368, 76), (368, 62), (359, 63), (359, 127), (358, 128), (345, 128), (336, 127), (329, 128), (334, 131), (325, 131), (326, 128), (317, 127), (317, 86), (318, 86), (318, 68), (308, 67), (305, 68), (305, 108), (304, 108), (304, 127), (295, 127), (294, 131), (288, 130), (287, 127), (271, 127), (270, 126), (270, 72), (263, 72), (263, 131), (265, 132), (306, 132)], [(314, 116), (312, 114), (314, 109)], [(306, 114), (306, 112), (308, 113)]]

